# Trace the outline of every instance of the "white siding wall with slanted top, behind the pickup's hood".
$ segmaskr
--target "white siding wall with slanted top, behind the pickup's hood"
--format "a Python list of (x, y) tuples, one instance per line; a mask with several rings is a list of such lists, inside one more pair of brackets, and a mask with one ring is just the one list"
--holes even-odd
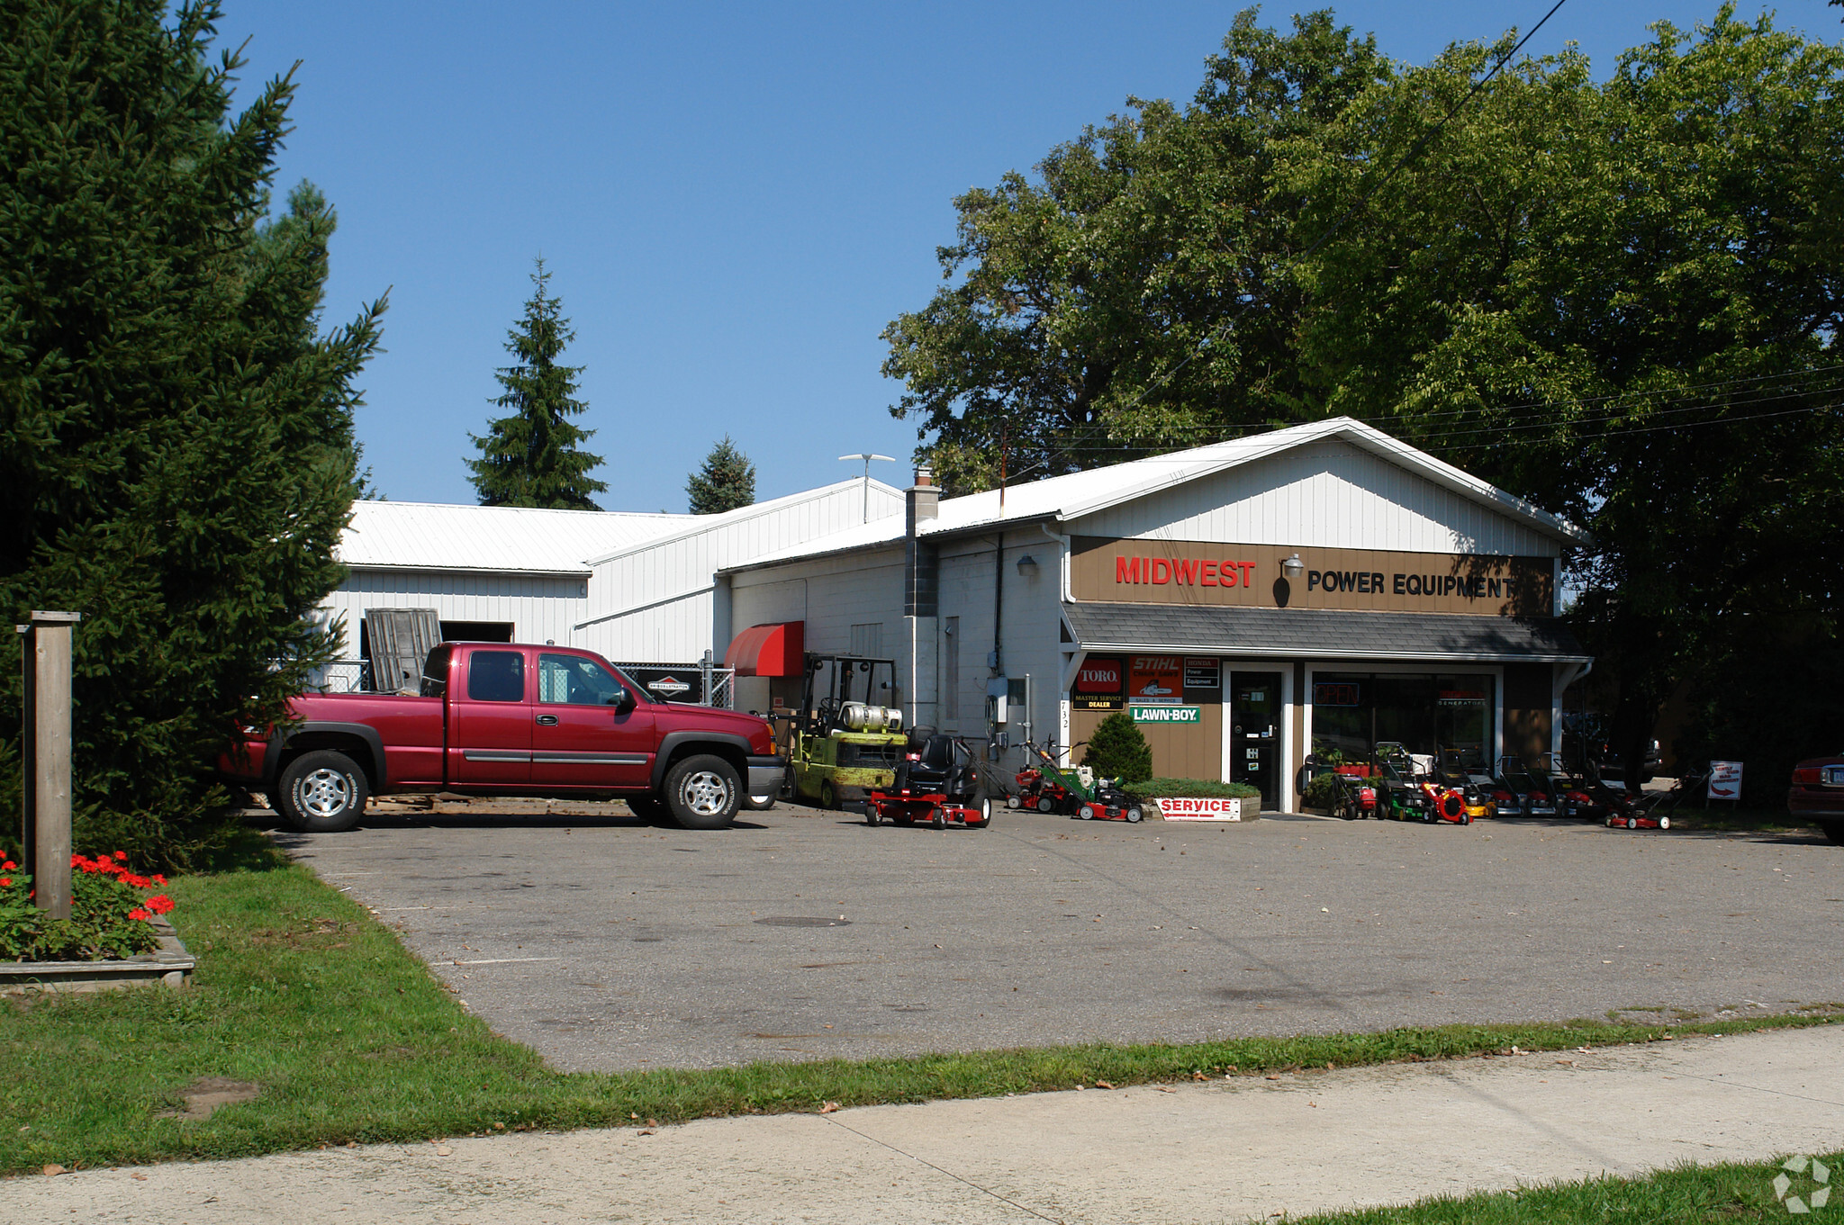
[[(896, 490), (870, 486), (870, 518), (904, 512)], [(725, 566), (752, 556), (778, 553), (806, 540), (857, 527), (865, 518), (863, 484), (835, 486), (817, 497), (762, 514), (725, 516), (708, 531), (638, 545), (592, 564), (588, 612), (577, 617), (581, 630), (570, 639), (612, 659), (697, 659), (706, 650), (719, 658), (728, 641), (715, 641), (712, 623), (712, 575)], [(900, 577), (900, 575), (898, 575)], [(898, 586), (898, 599), (902, 588)], [(898, 610), (900, 612), (900, 610)], [(756, 621), (732, 613), (732, 634)], [(811, 634), (811, 626), (808, 630)], [(894, 641), (894, 626), (885, 643)], [(562, 641), (562, 639), (559, 639)], [(811, 639), (810, 639), (811, 641)], [(833, 650), (826, 647), (826, 650)], [(845, 645), (837, 650), (846, 650)]]

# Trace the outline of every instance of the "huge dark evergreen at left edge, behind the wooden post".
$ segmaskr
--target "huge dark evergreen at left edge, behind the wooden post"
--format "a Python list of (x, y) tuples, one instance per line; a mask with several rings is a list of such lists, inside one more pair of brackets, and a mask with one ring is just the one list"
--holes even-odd
[[(83, 613), (74, 836), (183, 864), (205, 770), (337, 645), (308, 613), (358, 492), (382, 300), (319, 328), (334, 212), (269, 219), (288, 77), (230, 111), (218, 6), (0, 6), (0, 604)], [(0, 669), (18, 829), (20, 671)], [(11, 838), (11, 833), (4, 834)]]

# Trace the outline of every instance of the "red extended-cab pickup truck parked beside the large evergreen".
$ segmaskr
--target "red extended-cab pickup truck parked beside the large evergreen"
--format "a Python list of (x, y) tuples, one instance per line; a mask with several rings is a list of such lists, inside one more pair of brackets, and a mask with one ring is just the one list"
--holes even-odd
[(291, 720), (218, 764), (302, 831), (358, 823), (371, 796), (618, 798), (640, 816), (721, 829), (743, 796), (773, 796), (787, 761), (769, 724), (644, 700), (573, 647), (443, 643), (422, 694), (306, 694)]

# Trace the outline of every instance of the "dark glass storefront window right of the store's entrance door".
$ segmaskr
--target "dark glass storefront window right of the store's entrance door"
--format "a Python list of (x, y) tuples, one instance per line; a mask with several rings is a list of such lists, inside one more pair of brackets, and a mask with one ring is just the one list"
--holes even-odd
[(1411, 753), (1492, 755), (1488, 672), (1313, 672), (1313, 752), (1368, 759), (1379, 741)]

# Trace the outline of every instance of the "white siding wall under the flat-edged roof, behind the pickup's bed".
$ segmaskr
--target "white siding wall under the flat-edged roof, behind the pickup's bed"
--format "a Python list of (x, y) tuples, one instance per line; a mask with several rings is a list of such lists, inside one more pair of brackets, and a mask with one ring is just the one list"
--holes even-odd
[(433, 608), (443, 621), (511, 621), (513, 641), (570, 641), (583, 619), (586, 578), (483, 575), (472, 571), (354, 569), (321, 604), (345, 615), (343, 656), (358, 658), (358, 623), (367, 608)]

